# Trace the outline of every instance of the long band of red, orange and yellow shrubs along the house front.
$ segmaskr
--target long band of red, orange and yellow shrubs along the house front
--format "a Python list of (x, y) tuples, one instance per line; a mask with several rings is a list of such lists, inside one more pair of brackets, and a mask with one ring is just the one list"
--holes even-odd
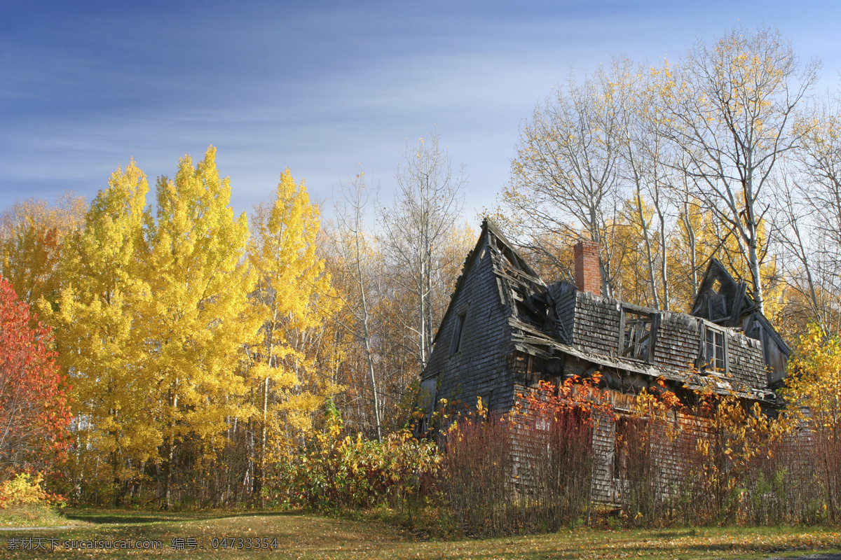
[[(801, 369), (798, 379), (807, 375)], [(278, 470), (278, 500), (326, 511), (383, 506), (402, 514), (392, 519), (440, 536), (838, 521), (837, 489), (823, 470), (835, 440), (810, 430), (804, 417), (812, 416), (795, 401), (774, 417), (710, 390), (684, 404), (661, 384), (620, 413), (595, 389), (598, 381), (542, 382), (505, 416), (481, 401), (473, 411), (443, 406), (437, 447), (405, 433), (354, 440), (332, 421)], [(597, 431), (615, 432), (616, 447), (596, 449)], [(613, 469), (621, 510), (592, 501), (599, 469)]]

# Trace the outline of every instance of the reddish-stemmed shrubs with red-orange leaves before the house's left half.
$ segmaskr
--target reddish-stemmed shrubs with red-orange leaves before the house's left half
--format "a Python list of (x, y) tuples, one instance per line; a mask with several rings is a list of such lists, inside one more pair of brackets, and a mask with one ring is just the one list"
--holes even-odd
[[(591, 397), (595, 397), (595, 400)], [(469, 535), (557, 531), (584, 522), (593, 431), (612, 421), (590, 381), (544, 383), (510, 415), (456, 416), (441, 434), (442, 505)], [(451, 421), (443, 414), (443, 421)]]

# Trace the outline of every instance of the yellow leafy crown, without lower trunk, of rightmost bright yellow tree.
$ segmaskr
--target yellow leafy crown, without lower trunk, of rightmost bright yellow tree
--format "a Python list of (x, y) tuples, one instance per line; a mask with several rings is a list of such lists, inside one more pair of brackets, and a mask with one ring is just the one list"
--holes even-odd
[(304, 183), (296, 186), (286, 170), (272, 207), (257, 208), (253, 228), (249, 260), (257, 274), (254, 298), (264, 321), (256, 347), (260, 361), (251, 367), (251, 377), (270, 392), (278, 391), (272, 405), (286, 411), (289, 427), (308, 430), (310, 414), (334, 391), (330, 379), (314, 371), (322, 364), (315, 364), (306, 340), (336, 306), (335, 298), (326, 297), (331, 286), (324, 261), (315, 255), (319, 210), (310, 203)]

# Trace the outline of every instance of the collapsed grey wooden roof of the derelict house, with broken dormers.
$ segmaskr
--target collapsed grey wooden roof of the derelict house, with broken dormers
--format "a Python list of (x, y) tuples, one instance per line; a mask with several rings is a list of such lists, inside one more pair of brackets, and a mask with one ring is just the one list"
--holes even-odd
[[(669, 385), (690, 390), (709, 388), (766, 403), (775, 401), (770, 384), (781, 376), (763, 344), (779, 342), (774, 355), (782, 356), (778, 361), (783, 373), (791, 351), (756, 308), (747, 286), (733, 280), (717, 260), (704, 276), (693, 314), (660, 311), (598, 296), (567, 281), (547, 284), (486, 218), (476, 249), (465, 261), (453, 300), (475, 252), (485, 247), (492, 259), (500, 302), (508, 312), (512, 350), (549, 364), (573, 359), (593, 364), (603, 373), (665, 379)], [(452, 304), (442, 325), (451, 312)], [(629, 334), (641, 325), (648, 330), (639, 331), (639, 336)], [(758, 325), (758, 333), (765, 339), (751, 337), (745, 325), (754, 332)], [(722, 371), (699, 367), (705, 348), (701, 338), (707, 332), (712, 333), (707, 337), (721, 341), (722, 354), (727, 348)], [(436, 341), (441, 334), (439, 330)], [(636, 337), (633, 343), (628, 342), (629, 336)]]

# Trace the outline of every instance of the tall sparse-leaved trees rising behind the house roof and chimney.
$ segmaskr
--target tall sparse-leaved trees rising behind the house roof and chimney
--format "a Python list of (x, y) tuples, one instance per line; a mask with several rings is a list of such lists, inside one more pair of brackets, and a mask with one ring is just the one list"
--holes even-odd
[[(689, 311), (716, 257), (760, 311), (767, 304), (775, 322), (788, 321), (791, 290), (771, 239), (779, 195), (791, 181), (806, 194), (832, 185), (838, 169), (825, 149), (831, 134), (829, 144), (812, 142), (815, 123), (801, 118), (816, 72), (778, 30), (736, 28), (699, 39), (677, 64), (615, 58), (571, 76), (521, 129), (500, 194), (511, 237), (554, 269), (550, 278), (567, 275), (563, 246), (590, 238), (600, 243), (604, 295), (665, 311)], [(783, 165), (791, 157), (803, 160), (797, 170)], [(837, 230), (837, 196), (823, 199), (827, 229)]]

